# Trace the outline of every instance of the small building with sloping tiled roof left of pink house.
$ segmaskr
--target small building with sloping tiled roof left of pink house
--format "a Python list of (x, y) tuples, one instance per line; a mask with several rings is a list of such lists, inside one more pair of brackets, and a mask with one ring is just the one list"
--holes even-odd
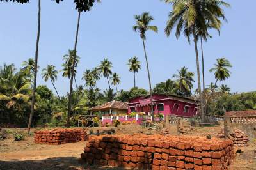
[(127, 114), (128, 103), (113, 100), (111, 102), (92, 107), (89, 109), (89, 111), (99, 112), (99, 114), (102, 116)]

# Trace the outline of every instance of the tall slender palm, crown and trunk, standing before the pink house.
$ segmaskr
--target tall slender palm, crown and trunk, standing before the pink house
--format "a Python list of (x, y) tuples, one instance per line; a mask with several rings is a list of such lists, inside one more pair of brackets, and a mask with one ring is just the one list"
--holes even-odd
[(148, 66), (147, 52), (146, 52), (146, 48), (145, 48), (145, 39), (146, 39), (145, 34), (146, 34), (147, 30), (151, 30), (151, 31), (154, 31), (155, 33), (157, 33), (158, 29), (157, 29), (157, 26), (149, 26), (150, 22), (152, 20), (154, 20), (154, 18), (152, 16), (150, 16), (148, 12), (143, 12), (141, 15), (136, 15), (134, 17), (134, 19), (136, 20), (136, 25), (133, 26), (133, 30), (135, 32), (137, 32), (137, 31), (140, 32), (140, 38), (142, 39), (142, 42), (143, 42), (143, 48), (144, 48), (144, 54), (145, 54), (145, 59), (146, 59), (146, 64), (147, 64), (147, 72), (148, 72), (148, 83), (149, 83), (149, 93), (150, 93), (150, 101), (151, 101), (152, 121), (153, 121), (153, 123), (155, 123), (150, 72), (149, 72), (149, 66)]

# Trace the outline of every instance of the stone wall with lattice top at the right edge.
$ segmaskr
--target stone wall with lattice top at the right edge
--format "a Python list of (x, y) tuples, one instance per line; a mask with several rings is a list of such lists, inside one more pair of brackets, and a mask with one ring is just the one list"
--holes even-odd
[(249, 139), (256, 138), (256, 111), (226, 112), (224, 133), (227, 138), (234, 130), (242, 130)]

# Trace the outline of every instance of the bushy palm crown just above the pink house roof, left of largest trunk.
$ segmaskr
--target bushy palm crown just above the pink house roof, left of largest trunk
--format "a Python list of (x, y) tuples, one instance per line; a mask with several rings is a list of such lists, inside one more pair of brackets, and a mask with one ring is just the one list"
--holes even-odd
[(177, 72), (179, 74), (173, 74), (173, 77), (177, 78), (176, 82), (179, 90), (184, 93), (191, 93), (195, 73), (189, 72), (188, 68), (186, 67), (180, 68), (180, 70), (177, 70)]

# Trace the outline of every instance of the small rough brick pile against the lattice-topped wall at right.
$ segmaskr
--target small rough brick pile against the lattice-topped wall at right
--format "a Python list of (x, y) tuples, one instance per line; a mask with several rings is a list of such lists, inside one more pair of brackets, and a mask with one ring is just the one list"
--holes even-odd
[(244, 132), (239, 129), (234, 130), (234, 132), (230, 134), (230, 139), (232, 139), (237, 146), (245, 146), (249, 141), (248, 135), (244, 134)]

